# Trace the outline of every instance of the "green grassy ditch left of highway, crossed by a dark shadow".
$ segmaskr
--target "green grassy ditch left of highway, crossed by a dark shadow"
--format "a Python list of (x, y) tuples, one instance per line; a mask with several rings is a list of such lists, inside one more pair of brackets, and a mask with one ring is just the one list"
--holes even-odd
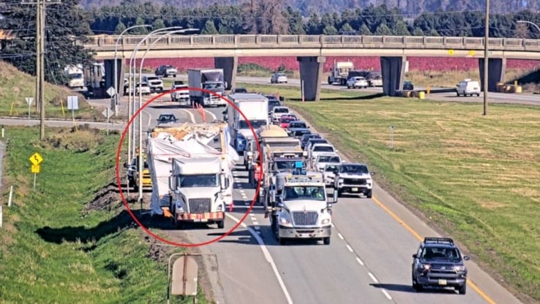
[[(7, 127), (0, 229), (1, 303), (163, 303), (166, 259), (123, 210), (113, 182), (118, 134)], [(6, 141), (4, 141), (6, 143)], [(44, 158), (37, 184), (28, 158)], [(199, 303), (207, 303), (199, 293)], [(192, 303), (192, 298), (173, 298)]]

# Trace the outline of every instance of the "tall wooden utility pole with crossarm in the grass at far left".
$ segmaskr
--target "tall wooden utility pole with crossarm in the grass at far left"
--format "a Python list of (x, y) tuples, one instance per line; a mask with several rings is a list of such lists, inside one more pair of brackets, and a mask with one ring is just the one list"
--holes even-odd
[(22, 0), (21, 4), (36, 6), (35, 19), (35, 109), (39, 111), (39, 139), (45, 138), (45, 8), (60, 0)]

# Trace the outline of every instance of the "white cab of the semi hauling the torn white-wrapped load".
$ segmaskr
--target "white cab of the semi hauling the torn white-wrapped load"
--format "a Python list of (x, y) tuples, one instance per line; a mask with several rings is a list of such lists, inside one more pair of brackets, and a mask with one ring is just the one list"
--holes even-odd
[(177, 228), (185, 222), (215, 223), (224, 228), (224, 192), (230, 184), (221, 157), (173, 159), (170, 211)]

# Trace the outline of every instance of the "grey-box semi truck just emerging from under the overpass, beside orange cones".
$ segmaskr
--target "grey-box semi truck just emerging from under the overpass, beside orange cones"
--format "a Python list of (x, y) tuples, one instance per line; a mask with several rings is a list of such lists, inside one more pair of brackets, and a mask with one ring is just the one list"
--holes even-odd
[[(188, 69), (188, 85), (192, 88), (206, 89), (225, 96), (227, 84), (224, 80), (223, 69), (200, 68)], [(226, 107), (227, 102), (219, 96), (199, 90), (190, 90), (192, 102), (202, 107)]]

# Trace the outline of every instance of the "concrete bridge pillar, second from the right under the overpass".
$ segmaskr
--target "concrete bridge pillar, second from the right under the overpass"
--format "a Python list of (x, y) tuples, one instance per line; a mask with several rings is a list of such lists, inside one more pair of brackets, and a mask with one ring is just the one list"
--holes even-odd
[(383, 78), (384, 95), (396, 96), (396, 91), (402, 90), (406, 61), (405, 56), (381, 57), (381, 74)]

